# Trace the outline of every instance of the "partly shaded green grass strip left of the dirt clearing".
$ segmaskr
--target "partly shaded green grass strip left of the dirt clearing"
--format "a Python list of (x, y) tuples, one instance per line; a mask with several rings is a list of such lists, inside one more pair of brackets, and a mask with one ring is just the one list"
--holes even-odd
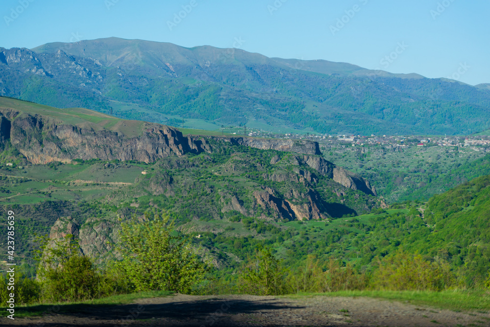
[[(107, 298), (87, 300), (81, 302), (64, 302), (64, 303), (45, 303), (45, 304), (28, 304), (16, 307), (15, 317), (36, 317), (43, 314), (53, 313), (54, 308), (59, 306), (56, 313), (89, 313), (98, 307), (130, 304), (138, 299), (163, 298), (171, 296), (173, 293), (169, 291), (150, 291), (139, 292), (132, 294), (122, 294), (110, 296)], [(6, 312), (6, 311), (5, 311)]]

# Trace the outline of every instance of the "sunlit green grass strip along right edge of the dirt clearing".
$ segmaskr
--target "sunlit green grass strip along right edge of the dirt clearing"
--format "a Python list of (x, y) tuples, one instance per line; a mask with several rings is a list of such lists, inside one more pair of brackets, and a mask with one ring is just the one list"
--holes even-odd
[(408, 302), (414, 305), (428, 305), (453, 311), (490, 312), (490, 292), (484, 290), (425, 291), (339, 291), (331, 293), (299, 293), (285, 297), (345, 296), (369, 297)]

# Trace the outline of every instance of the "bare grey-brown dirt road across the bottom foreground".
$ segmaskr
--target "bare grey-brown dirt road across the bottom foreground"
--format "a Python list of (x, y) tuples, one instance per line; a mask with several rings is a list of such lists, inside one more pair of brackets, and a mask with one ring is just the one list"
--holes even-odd
[(371, 298), (190, 296), (94, 306), (87, 312), (1, 318), (0, 326), (490, 326), (489, 313), (463, 313)]

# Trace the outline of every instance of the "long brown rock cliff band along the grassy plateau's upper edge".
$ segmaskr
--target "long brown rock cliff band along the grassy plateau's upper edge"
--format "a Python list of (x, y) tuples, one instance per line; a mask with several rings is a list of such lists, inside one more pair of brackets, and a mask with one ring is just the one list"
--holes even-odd
[[(15, 117), (15, 119), (14, 119)], [(137, 160), (154, 162), (172, 155), (212, 152), (206, 138), (182, 133), (172, 127), (145, 123), (140, 136), (126, 137), (107, 129), (77, 127), (39, 115), (0, 108), (0, 143), (10, 140), (31, 163), (70, 163), (74, 159)], [(212, 138), (259, 149), (320, 154), (312, 141)]]

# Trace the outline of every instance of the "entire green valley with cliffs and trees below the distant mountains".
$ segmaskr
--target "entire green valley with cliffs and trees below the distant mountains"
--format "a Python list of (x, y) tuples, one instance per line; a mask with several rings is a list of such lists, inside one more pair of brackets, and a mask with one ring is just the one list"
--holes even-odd
[[(486, 292), (489, 285), (484, 148), (395, 151), (198, 135), (0, 100), (1, 209), (16, 215), (25, 303), (135, 291)], [(149, 272), (137, 244), (153, 244), (145, 250), (155, 251)], [(70, 270), (80, 265), (85, 270)], [(180, 279), (151, 272), (158, 266)], [(77, 278), (93, 281), (64, 293)]]

